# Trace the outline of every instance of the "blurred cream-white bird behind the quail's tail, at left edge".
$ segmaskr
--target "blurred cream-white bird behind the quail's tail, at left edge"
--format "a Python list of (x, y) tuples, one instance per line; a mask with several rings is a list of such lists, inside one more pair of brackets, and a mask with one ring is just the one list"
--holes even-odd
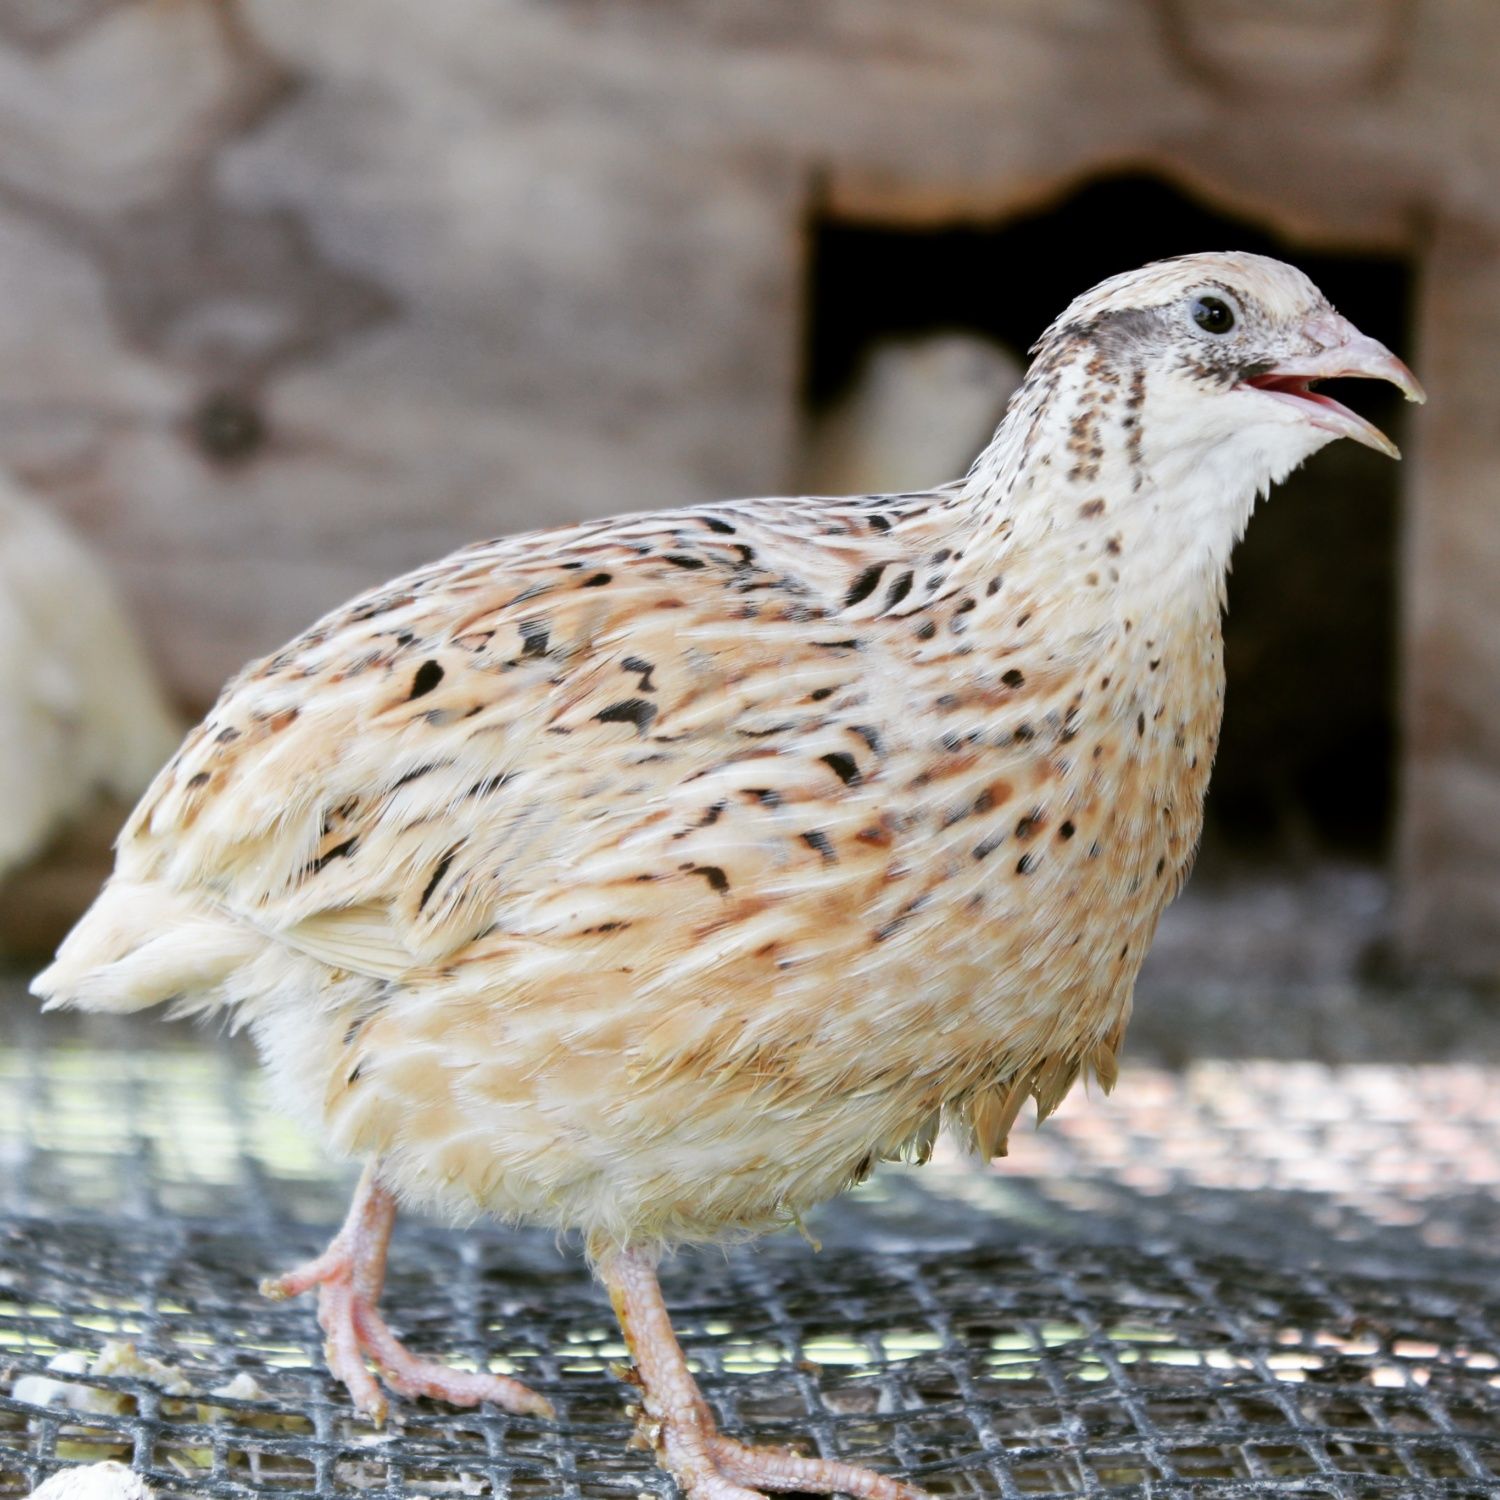
[(104, 567), (0, 476), (0, 876), (140, 795), (178, 738)]

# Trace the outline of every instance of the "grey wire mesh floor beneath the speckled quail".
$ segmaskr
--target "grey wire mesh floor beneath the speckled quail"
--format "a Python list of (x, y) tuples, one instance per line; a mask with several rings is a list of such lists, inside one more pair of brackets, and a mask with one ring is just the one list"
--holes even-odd
[[(39, 1020), (0, 1047), (0, 1494), (662, 1496), (624, 1348), (546, 1236), (398, 1226), (384, 1308), (556, 1422), (354, 1416), (306, 1302), (348, 1179), (242, 1048)], [(938, 1496), (1500, 1497), (1500, 1070), (1136, 1066), (994, 1168), (888, 1172), (663, 1286), (724, 1426)], [(58, 1368), (63, 1366), (63, 1368)]]

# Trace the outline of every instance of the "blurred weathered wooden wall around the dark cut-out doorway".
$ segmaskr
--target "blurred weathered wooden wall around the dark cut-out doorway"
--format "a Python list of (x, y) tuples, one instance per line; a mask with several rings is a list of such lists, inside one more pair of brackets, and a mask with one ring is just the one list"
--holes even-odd
[(198, 705), (450, 544), (784, 483), (813, 208), (1130, 165), (1414, 256), (1404, 934), (1500, 970), (1497, 56), (1491, 0), (0, 0), (0, 464)]

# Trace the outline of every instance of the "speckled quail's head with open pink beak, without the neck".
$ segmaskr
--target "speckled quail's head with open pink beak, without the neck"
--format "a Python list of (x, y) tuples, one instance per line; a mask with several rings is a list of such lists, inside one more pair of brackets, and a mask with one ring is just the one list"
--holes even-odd
[(1341, 318), (1302, 272), (1263, 255), (1184, 255), (1113, 276), (1076, 298), (1035, 352), (1038, 369), (1074, 364), (1080, 394), (1113, 405), (1116, 420), (1134, 416), (1138, 462), (1166, 466), (1168, 482), (1228, 465), (1263, 489), (1334, 438), (1400, 458), (1318, 381), (1384, 380), (1425, 400), (1383, 344)]

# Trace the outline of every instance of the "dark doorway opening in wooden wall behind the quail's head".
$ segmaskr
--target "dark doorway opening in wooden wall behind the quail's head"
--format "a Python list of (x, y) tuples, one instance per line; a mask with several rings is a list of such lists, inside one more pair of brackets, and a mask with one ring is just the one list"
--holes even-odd
[[(1094, 182), (1000, 224), (814, 219), (810, 237), (810, 412), (840, 398), (876, 340), (958, 328), (1024, 354), (1094, 282), (1188, 250), (1294, 261), (1366, 333), (1402, 356), (1408, 345), (1407, 262), (1288, 246), (1154, 177)], [(1350, 400), (1401, 441), (1395, 392), (1358, 382)], [(1326, 448), (1257, 508), (1230, 579), (1209, 866), (1384, 855), (1396, 758), (1398, 512), (1398, 465), (1350, 442)]]

